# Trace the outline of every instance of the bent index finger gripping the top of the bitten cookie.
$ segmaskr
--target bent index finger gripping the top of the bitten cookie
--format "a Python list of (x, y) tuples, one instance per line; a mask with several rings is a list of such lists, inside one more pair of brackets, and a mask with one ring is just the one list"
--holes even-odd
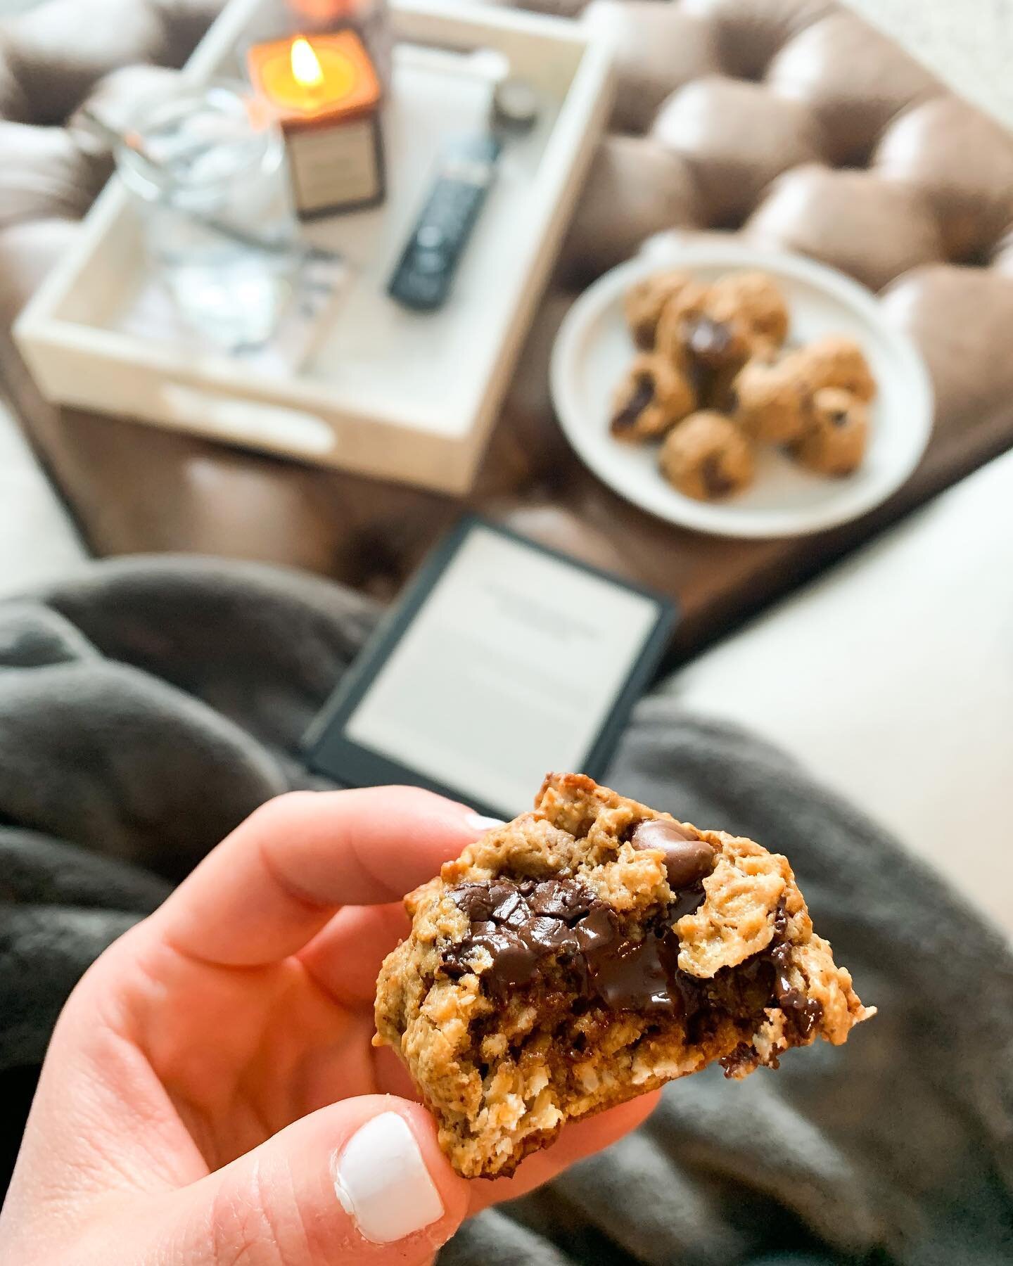
[(210, 852), (148, 927), (205, 962), (276, 962), (339, 905), (400, 899), (484, 829), (465, 805), (417, 787), (279, 796)]

